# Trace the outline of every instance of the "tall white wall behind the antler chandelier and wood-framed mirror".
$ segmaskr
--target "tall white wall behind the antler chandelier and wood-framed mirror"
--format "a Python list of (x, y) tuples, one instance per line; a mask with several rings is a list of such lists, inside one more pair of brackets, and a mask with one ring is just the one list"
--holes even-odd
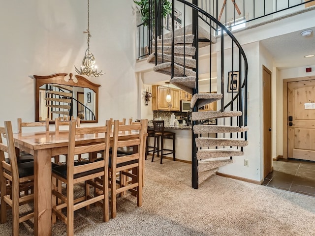
[[(133, 1), (90, 1), (90, 49), (104, 75), (88, 78), (99, 89), (99, 122), (137, 117)], [(75, 74), (87, 48), (86, 0), (10, 0), (0, 8), (0, 125), (34, 121), (32, 75)]]

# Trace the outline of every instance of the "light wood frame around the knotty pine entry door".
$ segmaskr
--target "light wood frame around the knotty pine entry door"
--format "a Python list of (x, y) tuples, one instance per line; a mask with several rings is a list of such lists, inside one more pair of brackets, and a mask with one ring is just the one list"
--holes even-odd
[(315, 80), (315, 76), (305, 76), (305, 77), (298, 77), (298, 78), (291, 78), (291, 79), (284, 79), (283, 80), (283, 109), (284, 109), (284, 116), (283, 116), (283, 158), (287, 159), (287, 83), (290, 82), (299, 82), (304, 80)]

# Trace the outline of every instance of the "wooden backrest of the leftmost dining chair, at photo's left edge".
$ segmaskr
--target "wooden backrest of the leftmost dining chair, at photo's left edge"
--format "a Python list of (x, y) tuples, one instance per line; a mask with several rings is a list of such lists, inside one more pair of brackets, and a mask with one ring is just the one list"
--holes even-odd
[[(3, 136), (3, 137), (2, 137)], [(2, 138), (6, 139), (6, 144), (2, 142)], [(5, 161), (5, 154), (10, 160), (10, 163)], [(1, 161), (1, 175), (3, 175), (3, 169), (7, 170), (11, 173), (12, 179), (9, 180), (15, 184), (15, 186), (19, 185), (19, 171), (17, 158), (15, 153), (14, 139), (13, 139), (13, 131), (12, 131), (12, 123), (11, 121), (4, 121), (4, 127), (0, 127), (0, 161)]]

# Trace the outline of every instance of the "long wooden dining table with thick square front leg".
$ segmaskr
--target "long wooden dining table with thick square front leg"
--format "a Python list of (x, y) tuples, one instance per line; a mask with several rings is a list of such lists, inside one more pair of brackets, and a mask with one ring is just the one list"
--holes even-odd
[[(52, 180), (51, 158), (67, 153), (68, 130), (14, 134), (15, 147), (34, 156), (34, 235), (51, 236)], [(120, 132), (120, 140), (138, 136), (137, 131)], [(145, 134), (147, 136), (147, 133)], [(111, 134), (111, 139), (113, 134)], [(85, 145), (104, 142), (104, 134), (86, 134), (76, 138)], [(142, 160), (144, 158), (141, 158)]]

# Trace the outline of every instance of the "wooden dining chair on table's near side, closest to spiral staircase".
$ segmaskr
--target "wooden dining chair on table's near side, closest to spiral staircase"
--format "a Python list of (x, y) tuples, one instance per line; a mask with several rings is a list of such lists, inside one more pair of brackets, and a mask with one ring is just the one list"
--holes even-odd
[[(119, 120), (114, 121), (113, 131), (113, 148), (109, 163), (109, 177), (110, 177), (110, 203), (111, 203), (111, 217), (116, 217), (116, 198), (117, 194), (129, 191), (137, 197), (137, 206), (142, 205), (142, 172), (143, 172), (143, 146), (145, 133), (148, 128), (148, 120), (142, 119), (138, 124), (120, 125)], [(128, 140), (119, 140), (119, 133), (138, 131)], [(130, 155), (118, 156), (117, 149), (120, 147), (133, 146), (134, 151)], [(132, 172), (130, 172), (132, 170)], [(119, 173), (117, 178), (116, 173)], [(124, 181), (124, 176), (130, 177), (131, 181)]]

